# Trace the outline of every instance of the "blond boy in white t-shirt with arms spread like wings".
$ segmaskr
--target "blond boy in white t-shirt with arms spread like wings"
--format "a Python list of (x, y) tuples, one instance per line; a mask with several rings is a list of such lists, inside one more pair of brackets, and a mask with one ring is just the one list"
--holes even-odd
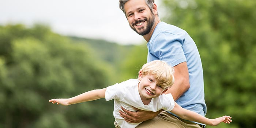
[(52, 99), (53, 104), (71, 105), (85, 101), (105, 98), (107, 101), (114, 99), (114, 118), (116, 128), (135, 128), (140, 123), (128, 123), (121, 116), (121, 107), (136, 111), (132, 107), (145, 111), (171, 111), (185, 120), (196, 121), (208, 125), (218, 125), (221, 122), (230, 123), (230, 116), (208, 119), (196, 112), (180, 107), (174, 102), (172, 95), (163, 94), (174, 83), (174, 70), (166, 62), (154, 60), (144, 64), (139, 71), (138, 79), (129, 79), (120, 84), (115, 84), (103, 89), (96, 89), (82, 93), (69, 99)]

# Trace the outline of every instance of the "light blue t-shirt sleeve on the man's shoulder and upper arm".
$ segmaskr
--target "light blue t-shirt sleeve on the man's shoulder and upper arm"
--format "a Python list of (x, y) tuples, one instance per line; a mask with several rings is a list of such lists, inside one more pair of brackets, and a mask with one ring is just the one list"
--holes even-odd
[(159, 57), (159, 60), (166, 61), (172, 66), (176, 66), (187, 61), (183, 47), (183, 35), (172, 35), (170, 33), (161, 33), (151, 46), (151, 53)]

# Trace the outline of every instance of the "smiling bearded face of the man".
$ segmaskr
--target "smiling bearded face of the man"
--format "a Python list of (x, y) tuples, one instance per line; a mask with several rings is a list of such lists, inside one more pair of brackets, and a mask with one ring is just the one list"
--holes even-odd
[(146, 35), (152, 30), (155, 15), (145, 0), (129, 0), (125, 3), (124, 10), (130, 27), (139, 35)]

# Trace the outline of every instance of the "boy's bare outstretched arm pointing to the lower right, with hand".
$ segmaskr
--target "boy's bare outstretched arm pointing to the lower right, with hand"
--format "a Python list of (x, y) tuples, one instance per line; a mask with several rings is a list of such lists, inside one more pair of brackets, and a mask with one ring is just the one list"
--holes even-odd
[(193, 112), (193, 111), (190, 111), (190, 110), (180, 107), (180, 105), (178, 105), (176, 102), (175, 102), (174, 108), (171, 112), (176, 114), (177, 116), (181, 117), (182, 119), (195, 121), (198, 123), (203, 123), (203, 124), (207, 124), (207, 125), (211, 125), (211, 126), (216, 126), (221, 122), (228, 123), (228, 124), (230, 124), (230, 122), (232, 122), (230, 116), (222, 116), (222, 117), (215, 118), (215, 119), (208, 119), (196, 112)]

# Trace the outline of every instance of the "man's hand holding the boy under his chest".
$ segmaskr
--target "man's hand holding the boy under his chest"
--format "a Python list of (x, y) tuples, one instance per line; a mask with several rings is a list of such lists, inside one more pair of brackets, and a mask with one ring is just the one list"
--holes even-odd
[[(121, 107), (121, 109), (125, 112), (119, 111), (120, 112), (120, 116), (124, 118), (125, 121), (129, 122), (129, 123), (139, 123), (139, 122), (143, 122), (149, 119), (153, 119), (155, 116), (157, 116), (160, 112), (162, 112), (163, 110), (159, 110), (157, 112), (152, 112), (152, 111), (143, 111), (140, 110), (138, 108), (134, 108), (133, 109), (137, 110), (137, 112), (132, 112), (132, 111), (128, 111), (126, 109), (124, 109), (123, 107)], [(127, 114), (126, 114), (127, 113)]]

